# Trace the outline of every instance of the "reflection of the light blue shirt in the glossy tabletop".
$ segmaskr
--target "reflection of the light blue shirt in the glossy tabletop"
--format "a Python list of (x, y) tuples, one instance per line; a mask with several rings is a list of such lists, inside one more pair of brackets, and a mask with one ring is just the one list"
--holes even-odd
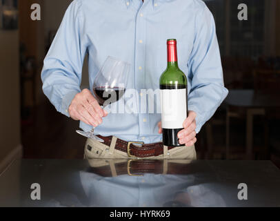
[(219, 190), (219, 184), (215, 182), (199, 184), (196, 175), (192, 174), (145, 173), (143, 176), (102, 177), (95, 173), (81, 171), (79, 178), (80, 188), (85, 193), (83, 198), (68, 189), (67, 192), (57, 194), (57, 198), (43, 200), (40, 206), (162, 207), (168, 206), (170, 204), (168, 202), (176, 200), (179, 195), (185, 201), (184, 206), (226, 206), (226, 199), (214, 191), (217, 188)]

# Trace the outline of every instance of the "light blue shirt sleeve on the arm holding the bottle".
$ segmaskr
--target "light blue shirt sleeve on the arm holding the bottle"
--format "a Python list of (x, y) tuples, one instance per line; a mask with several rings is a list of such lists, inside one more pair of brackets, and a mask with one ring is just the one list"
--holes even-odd
[(188, 110), (197, 113), (196, 132), (199, 133), (228, 95), (223, 84), (214, 18), (207, 6), (197, 14), (194, 46), (188, 66), (191, 81)]

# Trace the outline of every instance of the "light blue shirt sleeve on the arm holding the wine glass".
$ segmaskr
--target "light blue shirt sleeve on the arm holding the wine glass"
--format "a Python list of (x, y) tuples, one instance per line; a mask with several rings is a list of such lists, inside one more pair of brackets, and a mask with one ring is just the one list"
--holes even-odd
[(81, 72), (87, 51), (80, 7), (79, 1), (72, 1), (66, 10), (41, 72), (43, 93), (57, 111), (68, 117), (68, 107), (81, 91)]

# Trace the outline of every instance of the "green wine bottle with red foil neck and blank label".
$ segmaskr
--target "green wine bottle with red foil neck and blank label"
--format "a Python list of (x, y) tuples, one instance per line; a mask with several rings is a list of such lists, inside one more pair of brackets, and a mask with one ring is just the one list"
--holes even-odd
[(183, 129), (188, 115), (188, 79), (179, 69), (177, 59), (177, 40), (168, 39), (168, 65), (160, 77), (161, 127), (163, 145), (179, 144), (177, 133)]

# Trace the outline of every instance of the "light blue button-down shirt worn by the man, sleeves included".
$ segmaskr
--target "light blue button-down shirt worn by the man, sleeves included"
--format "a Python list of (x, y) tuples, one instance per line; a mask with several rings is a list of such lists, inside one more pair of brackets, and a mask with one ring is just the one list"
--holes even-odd
[[(109, 55), (132, 64), (127, 88), (139, 94), (141, 89), (156, 90), (167, 65), (166, 39), (177, 39), (179, 68), (188, 76), (188, 110), (197, 113), (198, 133), (228, 95), (214, 19), (201, 0), (73, 1), (44, 60), (43, 92), (69, 117), (68, 107), (81, 91), (86, 54), (90, 90)], [(131, 99), (125, 96), (125, 102)], [(159, 142), (160, 121), (156, 111), (110, 113), (94, 131), (123, 140)], [(80, 127), (92, 128), (83, 122)]]

